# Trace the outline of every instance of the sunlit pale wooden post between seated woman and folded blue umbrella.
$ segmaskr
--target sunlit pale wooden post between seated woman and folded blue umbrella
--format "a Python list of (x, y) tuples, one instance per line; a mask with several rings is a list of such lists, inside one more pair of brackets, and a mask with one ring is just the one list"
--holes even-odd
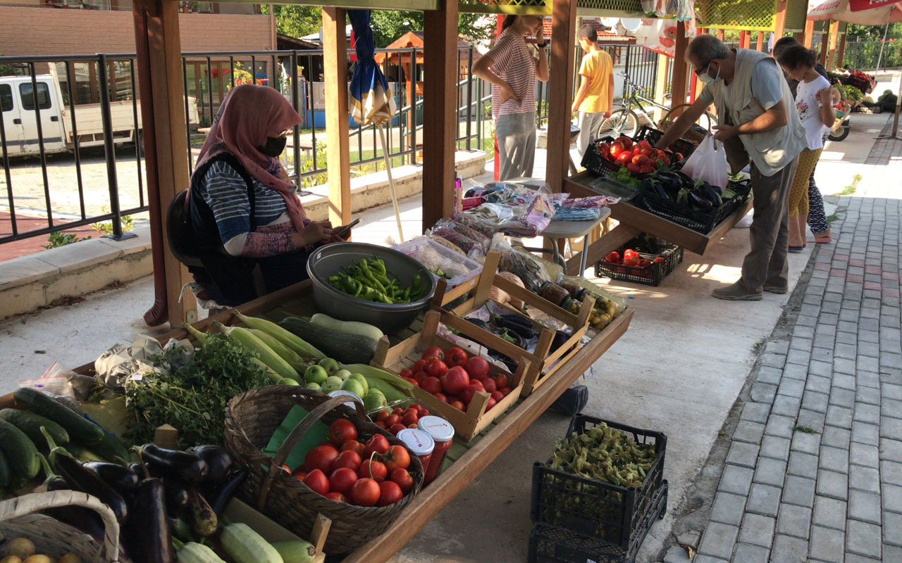
[(329, 221), (333, 225), (344, 225), (351, 221), (345, 21), (343, 8), (323, 8), (326, 160), (329, 178)]

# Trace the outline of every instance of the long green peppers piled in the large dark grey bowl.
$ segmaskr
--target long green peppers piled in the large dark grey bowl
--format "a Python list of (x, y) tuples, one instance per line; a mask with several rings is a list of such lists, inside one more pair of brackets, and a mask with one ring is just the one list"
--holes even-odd
[(356, 260), (328, 281), (339, 291), (373, 303), (410, 303), (419, 298), (424, 288), (419, 272), (410, 286), (402, 288), (398, 277), (385, 269), (385, 262), (378, 258)]

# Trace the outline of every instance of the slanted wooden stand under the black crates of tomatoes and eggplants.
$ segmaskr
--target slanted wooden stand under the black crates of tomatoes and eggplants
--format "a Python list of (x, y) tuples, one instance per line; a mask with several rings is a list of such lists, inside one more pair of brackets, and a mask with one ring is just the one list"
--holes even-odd
[[(594, 174), (588, 171), (568, 177), (564, 180), (564, 191), (573, 197), (599, 195), (598, 192), (585, 186), (589, 180), (594, 178)], [(609, 252), (620, 250), (621, 246), (640, 232), (648, 232), (686, 250), (691, 250), (695, 254), (704, 255), (713, 244), (720, 241), (721, 237), (733, 228), (733, 225), (739, 222), (746, 213), (749, 213), (752, 203), (751, 195), (749, 195), (744, 204), (741, 204), (735, 212), (707, 233), (693, 231), (688, 227), (676, 224), (676, 222), (667, 221), (664, 217), (640, 209), (633, 204), (613, 204), (611, 205), (611, 218), (616, 219), (619, 224), (601, 239), (595, 241), (591, 247), (580, 252), (579, 257), (567, 260), (567, 272), (574, 275), (579, 271), (580, 262), (596, 262), (603, 259)], [(584, 254), (585, 258), (583, 258)]]

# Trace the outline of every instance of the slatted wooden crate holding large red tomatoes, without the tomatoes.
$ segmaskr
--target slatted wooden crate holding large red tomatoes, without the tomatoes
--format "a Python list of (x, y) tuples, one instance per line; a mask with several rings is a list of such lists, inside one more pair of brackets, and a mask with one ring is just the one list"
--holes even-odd
[[(456, 343), (448, 341), (437, 334), (439, 322), (445, 323), (453, 319), (456, 319), (456, 317), (450, 313), (429, 311), (423, 320), (423, 329), (418, 334), (414, 334), (391, 347), (388, 340), (383, 338), (376, 349), (376, 357), (373, 358), (372, 362), (373, 366), (398, 374), (402, 370), (410, 368), (420, 358), (422, 352), (432, 346), (437, 346), (442, 350), (456, 347)], [(462, 326), (458, 331), (465, 338), (473, 340), (477, 344), (483, 344), (483, 342), (477, 340), (475, 335), (478, 327), (469, 322), (465, 322), (465, 324), (468, 326)], [(471, 350), (467, 350), (467, 353), (471, 356), (474, 355), (471, 353)], [(523, 374), (528, 369), (529, 359), (520, 359), (517, 370), (512, 374), (507, 369), (498, 368), (492, 364), (490, 370), (492, 373), (503, 373), (508, 377), (508, 386), (511, 387), (511, 393), (499, 401), (498, 404), (495, 404), (491, 411), (485, 410), (490, 395), (483, 391), (477, 392), (473, 396), (473, 400), (470, 401), (466, 411), (456, 409), (450, 404), (441, 401), (435, 395), (427, 393), (419, 386), (413, 387), (413, 398), (420, 404), (423, 404), (431, 413), (435, 413), (451, 422), (458, 436), (464, 440), (471, 440), (491, 424), (492, 421), (517, 403), (523, 388)]]

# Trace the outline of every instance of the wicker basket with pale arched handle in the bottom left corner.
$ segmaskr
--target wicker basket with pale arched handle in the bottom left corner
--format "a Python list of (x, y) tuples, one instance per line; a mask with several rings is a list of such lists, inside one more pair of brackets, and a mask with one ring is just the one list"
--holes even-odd
[[(69, 524), (36, 512), (61, 506), (84, 506), (103, 519), (104, 544)], [(77, 491), (53, 491), (17, 496), (0, 502), (0, 542), (28, 538), (38, 553), (54, 558), (73, 553), (85, 563), (130, 563), (119, 557), (119, 522), (113, 511), (96, 497)]]

